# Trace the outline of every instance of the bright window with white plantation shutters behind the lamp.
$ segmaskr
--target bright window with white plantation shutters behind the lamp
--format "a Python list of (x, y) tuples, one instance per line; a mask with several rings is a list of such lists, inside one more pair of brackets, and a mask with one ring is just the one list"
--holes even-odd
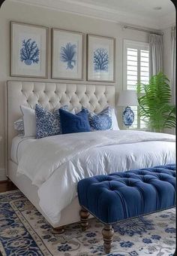
[[(149, 80), (149, 50), (148, 43), (124, 40), (124, 90), (136, 90), (136, 84)], [(145, 128), (145, 121), (138, 116), (139, 108), (131, 106), (134, 112), (134, 122), (131, 129)], [(142, 119), (142, 118), (141, 118)]]

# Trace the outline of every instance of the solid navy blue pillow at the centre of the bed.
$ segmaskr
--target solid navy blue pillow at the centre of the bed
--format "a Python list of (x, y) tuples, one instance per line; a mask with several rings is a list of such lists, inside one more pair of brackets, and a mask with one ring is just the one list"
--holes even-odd
[(85, 109), (78, 114), (71, 114), (68, 111), (59, 109), (62, 133), (83, 133), (90, 132), (88, 114)]

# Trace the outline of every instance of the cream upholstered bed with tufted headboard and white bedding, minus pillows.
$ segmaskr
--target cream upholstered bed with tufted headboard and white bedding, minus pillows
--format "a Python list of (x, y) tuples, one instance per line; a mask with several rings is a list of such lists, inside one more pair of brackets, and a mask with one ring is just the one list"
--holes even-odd
[[(175, 162), (175, 139), (171, 135), (158, 136), (151, 133), (148, 136), (148, 133), (138, 131), (112, 131), (110, 136), (110, 131), (98, 131), (90, 132), (87, 136), (83, 133), (69, 134), (40, 140), (17, 137), (15, 130), (13, 130), (13, 122), (22, 115), (20, 105), (34, 108), (36, 103), (49, 110), (62, 105), (68, 105), (70, 109), (80, 108), (84, 105), (86, 108), (98, 112), (107, 105), (114, 107), (115, 88), (109, 85), (92, 84), (7, 82), (7, 176), (19, 187), (52, 227), (61, 227), (80, 221), (80, 206), (77, 200), (77, 191), (74, 190), (74, 186), (76, 187), (80, 178), (101, 173), (106, 174), (108, 171), (125, 171), (132, 168)], [(133, 136), (133, 133), (136, 133), (136, 136)], [(133, 139), (133, 137), (136, 137), (136, 139)], [(77, 145), (78, 140), (84, 141), (83, 145)], [(48, 155), (49, 158), (46, 157), (47, 162), (51, 166), (55, 165), (56, 168), (51, 171), (45, 169), (45, 165), (43, 165), (43, 169), (38, 172), (35, 169), (35, 161), (32, 161), (34, 162), (33, 165), (30, 163), (37, 154), (35, 145), (38, 145), (40, 151), (43, 151), (44, 154), (47, 152), (47, 150), (44, 151), (45, 147), (50, 147), (49, 152), (52, 151), (52, 143), (54, 142), (58, 142), (55, 143), (57, 147), (60, 144), (65, 145), (65, 143), (68, 143), (69, 148), (76, 145), (77, 148), (73, 149), (76, 152), (75, 158), (72, 158), (72, 160), (69, 158), (72, 152), (56, 148), (55, 152), (58, 152), (58, 154), (53, 152), (50, 157)], [(20, 162), (21, 174), (17, 175), (17, 169), (20, 168), (19, 159), (22, 156), (24, 158), (23, 151), (25, 148), (28, 149), (28, 157), (22, 161), (23, 163)], [(68, 159), (66, 161), (63, 161), (61, 157), (63, 152), (65, 155), (68, 154), (68, 158), (65, 157)], [(52, 155), (55, 155), (55, 158), (51, 160)], [(103, 163), (96, 167), (99, 159)], [(26, 164), (26, 172), (25, 169), (23, 172), (22, 168), (24, 163)], [(78, 165), (78, 163), (80, 164)], [(74, 166), (80, 166), (77, 172), (77, 167)], [(115, 168), (115, 166), (118, 167)], [(35, 175), (34, 180), (34, 174), (37, 172), (38, 176), (36, 178)], [(48, 172), (51, 175), (48, 175)], [(65, 173), (61, 176), (65, 177), (65, 182), (62, 182), (62, 178), (59, 176), (62, 172)], [(58, 187), (62, 187), (66, 181), (68, 184), (64, 185), (62, 190), (58, 190)], [(62, 206), (58, 206), (57, 202), (60, 201)], [(59, 207), (60, 209), (58, 209)], [(52, 209), (51, 212), (49, 212), (49, 209)], [(55, 215), (52, 215), (52, 212), (55, 212)]]

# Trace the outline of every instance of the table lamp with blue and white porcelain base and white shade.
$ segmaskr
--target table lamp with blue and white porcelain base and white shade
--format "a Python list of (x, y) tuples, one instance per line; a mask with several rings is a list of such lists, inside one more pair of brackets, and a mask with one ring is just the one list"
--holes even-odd
[(136, 90), (122, 90), (120, 93), (118, 93), (117, 105), (127, 106), (123, 111), (122, 120), (125, 126), (131, 126), (134, 121), (134, 113), (130, 106), (139, 105)]

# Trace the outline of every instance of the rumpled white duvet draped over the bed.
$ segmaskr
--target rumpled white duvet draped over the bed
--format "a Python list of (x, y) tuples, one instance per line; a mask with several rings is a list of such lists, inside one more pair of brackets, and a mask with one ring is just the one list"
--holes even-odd
[(72, 133), (35, 140), (26, 147), (17, 173), (38, 187), (40, 207), (56, 224), (77, 197), (82, 178), (175, 163), (175, 136), (118, 130)]

